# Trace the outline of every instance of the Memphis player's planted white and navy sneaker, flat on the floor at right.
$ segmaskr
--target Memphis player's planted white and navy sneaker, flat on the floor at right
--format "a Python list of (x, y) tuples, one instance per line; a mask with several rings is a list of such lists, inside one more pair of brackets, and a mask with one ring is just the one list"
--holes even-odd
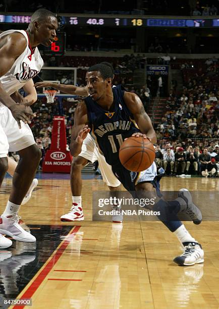
[(184, 252), (174, 262), (180, 266), (190, 266), (204, 262), (204, 251), (198, 242), (183, 242)]

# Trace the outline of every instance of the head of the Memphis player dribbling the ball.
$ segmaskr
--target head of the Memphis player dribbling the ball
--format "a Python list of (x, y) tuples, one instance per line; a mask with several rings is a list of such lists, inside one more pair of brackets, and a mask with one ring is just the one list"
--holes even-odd
[(86, 83), (94, 101), (98, 101), (105, 91), (112, 88), (113, 73), (111, 66), (106, 64), (96, 64), (87, 70)]

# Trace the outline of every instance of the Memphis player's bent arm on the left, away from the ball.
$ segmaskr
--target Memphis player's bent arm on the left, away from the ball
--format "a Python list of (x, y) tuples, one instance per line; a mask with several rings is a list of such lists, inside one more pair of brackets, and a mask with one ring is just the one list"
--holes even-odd
[(83, 140), (89, 132), (90, 128), (88, 128), (87, 107), (83, 101), (78, 104), (75, 110), (74, 126), (72, 127), (70, 143), (70, 152), (73, 157), (77, 157), (81, 152)]

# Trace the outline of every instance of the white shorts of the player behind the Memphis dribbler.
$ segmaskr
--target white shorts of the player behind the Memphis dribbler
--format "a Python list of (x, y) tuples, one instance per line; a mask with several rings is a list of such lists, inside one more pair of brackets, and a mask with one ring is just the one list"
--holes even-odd
[(98, 160), (102, 179), (107, 186), (118, 187), (121, 184), (121, 182), (114, 175), (111, 165), (106, 163), (105, 158), (99, 152), (97, 146), (95, 145), (94, 139), (90, 134), (88, 134), (84, 139), (79, 156), (87, 159), (91, 163)]

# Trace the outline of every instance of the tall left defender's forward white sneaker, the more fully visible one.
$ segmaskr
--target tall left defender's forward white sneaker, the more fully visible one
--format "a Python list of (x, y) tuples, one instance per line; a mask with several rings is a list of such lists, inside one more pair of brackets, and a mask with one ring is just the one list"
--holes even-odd
[(11, 236), (15, 240), (24, 242), (35, 242), (36, 238), (30, 233), (26, 232), (19, 225), (19, 216), (17, 214), (2, 215), (0, 218), (0, 233)]

